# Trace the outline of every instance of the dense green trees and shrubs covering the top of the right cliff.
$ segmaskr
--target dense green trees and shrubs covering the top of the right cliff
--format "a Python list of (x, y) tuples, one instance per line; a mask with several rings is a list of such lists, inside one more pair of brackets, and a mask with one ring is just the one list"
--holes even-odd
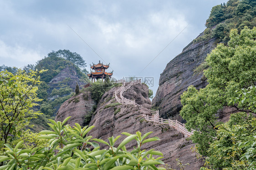
[(240, 32), (245, 26), (250, 29), (256, 26), (255, 0), (229, 0), (226, 4), (214, 6), (205, 26), (204, 34), (195, 39), (194, 43), (213, 37), (227, 43), (231, 29)]

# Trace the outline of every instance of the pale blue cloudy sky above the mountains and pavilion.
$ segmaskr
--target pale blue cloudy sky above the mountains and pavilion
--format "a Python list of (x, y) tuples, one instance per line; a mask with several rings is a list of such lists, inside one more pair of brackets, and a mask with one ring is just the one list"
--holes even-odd
[(87, 65), (110, 63), (116, 79), (153, 77), (155, 93), (166, 64), (205, 29), (211, 8), (223, 2), (0, 0), (0, 65), (23, 67), (52, 50), (69, 49)]

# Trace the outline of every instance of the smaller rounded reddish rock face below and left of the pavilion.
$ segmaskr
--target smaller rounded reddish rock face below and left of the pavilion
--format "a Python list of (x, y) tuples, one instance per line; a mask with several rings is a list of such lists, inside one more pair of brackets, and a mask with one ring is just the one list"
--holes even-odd
[(91, 98), (91, 92), (85, 91), (77, 96), (73, 96), (65, 101), (59, 108), (55, 121), (64, 121), (66, 117), (71, 116), (67, 124), (74, 126), (79, 123), (83, 126), (84, 117), (92, 112), (95, 102)]

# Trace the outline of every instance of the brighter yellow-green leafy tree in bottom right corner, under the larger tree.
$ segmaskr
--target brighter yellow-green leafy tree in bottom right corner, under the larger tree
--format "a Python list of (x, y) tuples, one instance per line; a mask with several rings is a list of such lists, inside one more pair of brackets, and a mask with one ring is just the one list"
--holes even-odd
[[(230, 103), (255, 112), (256, 86), (239, 89), (236, 93), (238, 97), (230, 98)], [(229, 121), (218, 126), (206, 162), (214, 169), (255, 170), (256, 117), (246, 112), (231, 114)]]

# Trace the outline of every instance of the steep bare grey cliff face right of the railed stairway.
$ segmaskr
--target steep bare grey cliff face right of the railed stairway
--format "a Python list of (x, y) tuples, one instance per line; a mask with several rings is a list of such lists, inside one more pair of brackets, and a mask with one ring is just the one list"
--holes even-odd
[(182, 107), (180, 95), (190, 85), (194, 85), (196, 88), (204, 88), (207, 85), (206, 78), (199, 68), (207, 54), (216, 45), (215, 38), (200, 43), (193, 44), (191, 42), (183, 49), (182, 53), (167, 64), (160, 76), (159, 87), (152, 100), (153, 107), (159, 108), (160, 117), (184, 122), (179, 116)]

